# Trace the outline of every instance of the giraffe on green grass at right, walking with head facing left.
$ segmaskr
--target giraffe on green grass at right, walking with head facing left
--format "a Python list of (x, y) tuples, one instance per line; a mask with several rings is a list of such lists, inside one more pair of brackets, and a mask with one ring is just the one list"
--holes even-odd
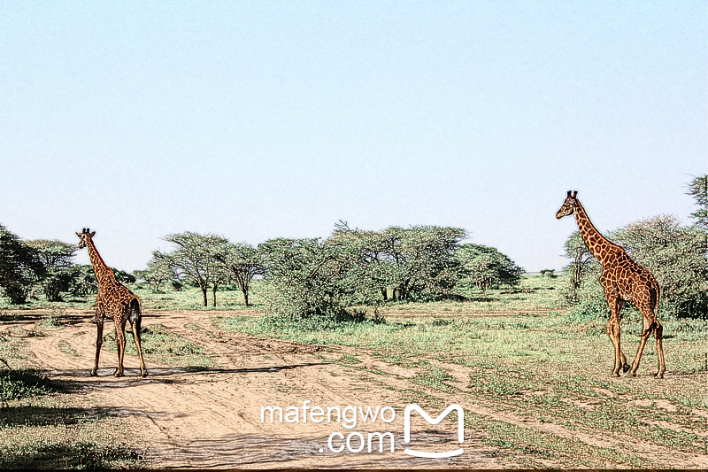
[(650, 271), (630, 259), (627, 252), (621, 246), (610, 242), (602, 236), (593, 226), (577, 199), (578, 192), (568, 190), (566, 201), (556, 213), (556, 218), (560, 220), (569, 214), (575, 215), (575, 221), (580, 229), (582, 239), (588, 245), (588, 249), (603, 267), (600, 275), (600, 284), (603, 287), (607, 304), (610, 306), (610, 321), (607, 323), (607, 335), (614, 344), (614, 368), (612, 375), (620, 376), (620, 368), (623, 372), (630, 369), (627, 365), (627, 358), (620, 349), (620, 310), (625, 301), (634, 302), (637, 309), (643, 315), (642, 340), (636, 352), (635, 361), (632, 363), (631, 375), (636, 375), (639, 368), (639, 360), (642, 357), (644, 344), (654, 332), (657, 339), (658, 372), (657, 378), (664, 378), (666, 367), (664, 365), (664, 348), (661, 344), (664, 328), (657, 319), (657, 309), (659, 301), (659, 287), (656, 279)]

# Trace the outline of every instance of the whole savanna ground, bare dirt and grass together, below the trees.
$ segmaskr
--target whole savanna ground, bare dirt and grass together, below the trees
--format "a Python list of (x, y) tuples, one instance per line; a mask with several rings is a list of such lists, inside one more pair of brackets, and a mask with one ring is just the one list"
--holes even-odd
[[(110, 324), (96, 377), (94, 298), (0, 310), (2, 468), (708, 468), (708, 323), (663, 320), (666, 375), (653, 337), (637, 376), (610, 375), (604, 320), (573, 317), (562, 278), (526, 275), (513, 290), (464, 301), (367, 308), (366, 321), (303, 330), (269, 321), (258, 282), (251, 305), (198, 289), (142, 298), (142, 378), (127, 330), (127, 375)], [(622, 345), (634, 359), (642, 321), (626, 310)], [(391, 423), (262, 422), (262, 406), (391, 406)], [(420, 449), (404, 453), (403, 411), (465, 410), (412, 422)], [(327, 447), (331, 433), (392, 431), (369, 453)], [(358, 446), (357, 438), (352, 443)], [(336, 439), (335, 445), (343, 445)]]

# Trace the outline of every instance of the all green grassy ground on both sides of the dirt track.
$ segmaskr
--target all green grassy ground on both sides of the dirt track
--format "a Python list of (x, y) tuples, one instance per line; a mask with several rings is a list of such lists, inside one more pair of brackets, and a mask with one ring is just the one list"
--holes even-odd
[[(612, 344), (604, 331), (605, 321), (571, 319), (558, 297), (560, 283), (560, 279), (529, 276), (517, 290), (479, 292), (464, 302), (391, 304), (378, 309), (383, 323), (346, 323), (316, 331), (263, 316), (266, 300), (258, 294), (258, 283), (250, 294), (248, 310), (238, 290), (219, 291), (216, 307), (211, 306), (210, 293), (206, 308), (198, 289), (164, 294), (134, 291), (148, 312), (206, 309), (214, 312), (216, 329), (366, 349), (366, 355), (376, 360), (415, 370), (414, 386), (397, 392), (404, 402), (435, 407), (442, 405), (441, 398), (459, 398), (471, 405), (493, 406), (501, 414), (525, 417), (528, 422), (573, 431), (578, 437), (600, 431), (609, 442), (612, 437), (635, 437), (650, 446), (705, 454), (705, 419), (694, 409), (706, 407), (708, 323), (663, 320), (668, 368), (663, 381), (652, 376), (657, 357), (651, 339), (639, 375), (612, 378)], [(15, 336), (0, 333), (0, 359), (15, 369), (10, 375), (0, 362), (4, 400), (0, 467), (141, 467), (141, 453), (114, 440), (129, 436), (119, 418), (111, 411), (82, 405), (81, 396), (66, 385), (46, 381), (31, 370), (32, 360), (23, 351), (23, 337), (41, 337), (43, 330), (61, 326), (63, 310), (90, 310), (93, 300), (93, 296), (54, 304), (34, 300), (24, 307), (42, 309), (42, 319), (32, 329)], [(221, 309), (247, 314), (223, 316)], [(368, 312), (373, 315), (371, 309)], [(0, 322), (17, 320), (24, 313), (18, 307), (0, 310)], [(630, 360), (640, 329), (637, 313), (627, 311), (622, 339)], [(108, 331), (104, 348), (114, 349)], [(211, 365), (208, 352), (164, 326), (150, 324), (142, 337), (150, 360), (174, 366)], [(72, 355), (70, 345), (58, 348)], [(132, 340), (127, 350), (135, 350)], [(336, 361), (350, 368), (352, 375), (387, 385), (386, 375), (367, 367), (361, 355), (342, 355)], [(466, 378), (455, 375), (457, 367), (466, 369)], [(531, 453), (539, 460), (563, 460), (568, 467), (599, 467), (605, 463), (602, 460), (627, 467), (654, 465), (626, 448), (589, 445), (573, 436), (554, 434), (552, 429), (523, 428), (474, 412), (466, 416), (466, 422), (481, 431), (489, 445), (510, 453)], [(543, 466), (543, 462), (532, 461), (527, 466)]]

